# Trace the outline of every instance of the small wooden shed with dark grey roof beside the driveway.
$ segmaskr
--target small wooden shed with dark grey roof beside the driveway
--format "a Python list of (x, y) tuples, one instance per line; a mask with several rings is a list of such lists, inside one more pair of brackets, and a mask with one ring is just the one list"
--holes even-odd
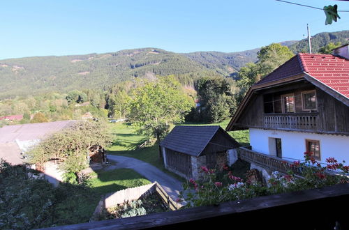
[(200, 178), (200, 167), (222, 167), (237, 160), (239, 144), (218, 125), (177, 125), (160, 143), (165, 169), (186, 179)]

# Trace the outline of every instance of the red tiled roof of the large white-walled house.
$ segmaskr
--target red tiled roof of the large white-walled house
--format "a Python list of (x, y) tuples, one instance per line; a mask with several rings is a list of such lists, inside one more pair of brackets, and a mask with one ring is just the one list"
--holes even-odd
[(349, 60), (331, 54), (297, 54), (257, 85), (306, 72), (327, 87), (349, 98)]

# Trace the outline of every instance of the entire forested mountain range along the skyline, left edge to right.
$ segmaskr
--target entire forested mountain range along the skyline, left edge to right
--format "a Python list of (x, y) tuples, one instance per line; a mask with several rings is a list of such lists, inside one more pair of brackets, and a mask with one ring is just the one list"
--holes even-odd
[[(313, 52), (327, 43), (348, 43), (349, 31), (318, 33)], [(266, 44), (267, 45), (267, 44)], [(307, 40), (285, 41), (292, 52), (307, 52)], [(248, 62), (257, 61), (259, 49), (244, 52), (177, 54), (163, 49), (128, 49), (106, 54), (34, 56), (0, 60), (0, 99), (36, 95), (45, 91), (107, 89), (135, 77), (211, 72), (228, 76)]]

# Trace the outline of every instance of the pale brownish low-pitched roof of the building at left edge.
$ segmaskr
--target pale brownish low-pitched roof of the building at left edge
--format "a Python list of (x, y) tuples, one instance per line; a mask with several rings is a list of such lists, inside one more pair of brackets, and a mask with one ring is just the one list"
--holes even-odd
[(54, 121), (46, 123), (30, 123), (23, 125), (6, 125), (0, 128), (0, 144), (15, 141), (45, 139), (54, 132), (68, 128), (75, 120)]

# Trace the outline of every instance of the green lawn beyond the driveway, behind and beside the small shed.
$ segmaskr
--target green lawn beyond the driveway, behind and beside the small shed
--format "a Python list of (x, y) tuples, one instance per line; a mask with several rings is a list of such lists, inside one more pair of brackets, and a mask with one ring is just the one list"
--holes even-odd
[[(225, 120), (221, 123), (214, 124), (203, 124), (203, 123), (184, 123), (184, 125), (221, 125), (225, 129), (230, 120)], [(139, 135), (135, 128), (130, 123), (110, 123), (110, 132), (114, 135), (114, 141), (112, 146), (107, 148), (107, 153), (111, 155), (123, 155), (126, 157), (136, 158), (138, 160), (143, 160), (149, 164), (154, 165), (158, 169), (165, 171), (171, 176), (179, 179), (179, 181), (184, 182), (184, 178), (173, 174), (163, 167), (163, 162), (158, 157), (158, 145), (145, 148), (137, 148), (142, 144), (146, 137), (144, 135)], [(233, 131), (229, 134), (234, 137), (240, 144), (246, 146), (249, 145), (248, 130)]]

